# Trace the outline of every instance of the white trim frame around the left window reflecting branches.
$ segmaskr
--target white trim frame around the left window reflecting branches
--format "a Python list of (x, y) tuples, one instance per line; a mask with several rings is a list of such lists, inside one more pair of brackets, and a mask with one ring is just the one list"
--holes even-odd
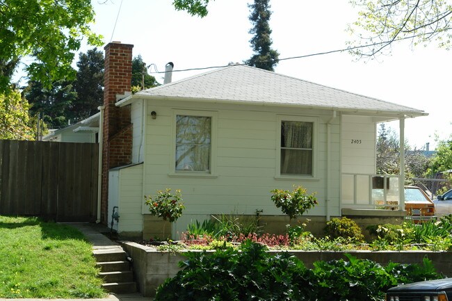
[[(177, 115), (211, 117), (211, 154), (210, 154), (210, 172), (195, 172), (176, 170), (176, 120)], [(171, 134), (171, 156), (169, 177), (195, 177), (195, 178), (216, 178), (216, 148), (217, 148), (217, 122), (218, 112), (215, 111), (195, 111), (195, 110), (172, 110), (172, 134)]]

